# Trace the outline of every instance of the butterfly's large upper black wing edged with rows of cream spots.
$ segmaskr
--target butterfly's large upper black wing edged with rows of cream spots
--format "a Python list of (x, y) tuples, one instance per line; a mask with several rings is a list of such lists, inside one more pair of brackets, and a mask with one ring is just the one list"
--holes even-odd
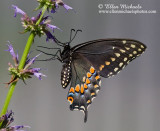
[(74, 52), (89, 60), (102, 77), (110, 77), (119, 73), (145, 49), (144, 44), (135, 40), (104, 39), (78, 45), (74, 47)]

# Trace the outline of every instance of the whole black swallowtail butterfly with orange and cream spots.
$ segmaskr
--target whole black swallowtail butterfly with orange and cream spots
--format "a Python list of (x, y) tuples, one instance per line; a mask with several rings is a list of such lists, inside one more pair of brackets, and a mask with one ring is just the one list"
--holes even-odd
[[(72, 31), (74, 30), (71, 30), (71, 36)], [(53, 57), (47, 60), (58, 59), (64, 63), (61, 84), (63, 88), (66, 88), (71, 82), (67, 95), (70, 110), (83, 111), (84, 122), (86, 122), (87, 108), (100, 90), (101, 77), (108, 78), (119, 73), (129, 62), (140, 56), (146, 46), (132, 39), (99, 39), (71, 48), (70, 43), (77, 32), (72, 39), (70, 36), (68, 43), (61, 43), (55, 38), (56, 43), (63, 46), (64, 49), (61, 52), (61, 49), (57, 48), (57, 53), (55, 55), (48, 54)]]

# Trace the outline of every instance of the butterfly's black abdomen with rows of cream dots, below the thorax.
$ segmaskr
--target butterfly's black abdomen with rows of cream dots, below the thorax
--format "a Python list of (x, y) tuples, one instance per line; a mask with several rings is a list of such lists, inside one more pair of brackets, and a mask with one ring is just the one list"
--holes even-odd
[(66, 88), (71, 80), (71, 65), (70, 63), (64, 64), (61, 72), (61, 85)]

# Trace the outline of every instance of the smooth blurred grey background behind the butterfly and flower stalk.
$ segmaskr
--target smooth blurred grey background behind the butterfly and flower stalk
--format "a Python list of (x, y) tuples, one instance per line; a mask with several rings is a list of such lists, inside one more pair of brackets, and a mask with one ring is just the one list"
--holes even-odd
[[(87, 123), (83, 113), (70, 111), (67, 92), (60, 84), (62, 64), (59, 61), (36, 62), (47, 78), (18, 82), (9, 109), (15, 113), (15, 124), (31, 126), (32, 131), (159, 131), (160, 129), (160, 1), (159, 0), (64, 0), (74, 8), (66, 12), (60, 8), (52, 15), (52, 24), (63, 31), (55, 31), (62, 42), (69, 40), (70, 29), (82, 29), (72, 46), (100, 38), (132, 38), (147, 45), (146, 52), (129, 64), (120, 74), (102, 79), (102, 88), (89, 108)], [(141, 4), (143, 9), (157, 10), (156, 14), (99, 14), (99, 4)], [(4, 50), (9, 40), (21, 56), (28, 33), (21, 35), (20, 16), (14, 18), (11, 5), (15, 4), (27, 14), (35, 16), (35, 0), (1, 0), (0, 2), (0, 108), (8, 88), (3, 83), (10, 79), (7, 71), (11, 56)], [(38, 45), (45, 37), (36, 37), (32, 46), (35, 56)], [(55, 53), (53, 51), (48, 51)], [(41, 55), (40, 58), (47, 58)]]

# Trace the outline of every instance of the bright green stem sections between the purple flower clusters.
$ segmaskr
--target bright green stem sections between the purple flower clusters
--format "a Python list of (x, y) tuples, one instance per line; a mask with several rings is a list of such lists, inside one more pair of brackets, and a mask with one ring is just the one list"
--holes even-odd
[[(39, 20), (37, 21), (36, 25), (40, 24), (41, 19), (42, 19), (43, 15), (44, 15), (46, 9), (47, 9), (47, 6), (44, 6), (44, 7), (43, 7), (43, 10), (42, 10), (42, 14), (41, 14)], [(28, 38), (28, 41), (27, 41), (27, 43), (26, 43), (26, 46), (25, 46), (25, 49), (24, 49), (24, 52), (23, 52), (21, 61), (20, 61), (20, 63), (19, 63), (19, 69), (23, 69), (23, 67), (24, 67), (24, 65), (25, 65), (25, 62), (26, 62), (26, 59), (27, 59), (27, 55), (28, 55), (29, 50), (30, 50), (30, 48), (31, 48), (31, 45), (32, 45), (32, 43), (33, 43), (34, 37), (35, 37), (35, 34), (34, 34), (33, 32), (31, 32), (31, 34), (30, 34), (30, 36), (29, 36), (29, 38)], [(13, 95), (13, 92), (14, 92), (14, 89), (15, 89), (16, 84), (17, 84), (17, 82), (14, 82), (14, 83), (11, 84), (11, 86), (10, 86), (10, 88), (9, 88), (9, 91), (8, 91), (8, 94), (7, 94), (7, 97), (6, 97), (6, 100), (5, 100), (5, 103), (4, 103), (4, 105), (3, 105), (3, 108), (2, 108), (2, 111), (1, 111), (1, 115), (0, 115), (0, 116), (6, 114), (7, 109), (8, 109), (8, 105), (9, 105), (10, 100), (11, 100), (11, 98), (12, 98), (12, 95)], [(0, 127), (1, 127), (1, 125), (2, 125), (2, 123), (0, 123)]]

